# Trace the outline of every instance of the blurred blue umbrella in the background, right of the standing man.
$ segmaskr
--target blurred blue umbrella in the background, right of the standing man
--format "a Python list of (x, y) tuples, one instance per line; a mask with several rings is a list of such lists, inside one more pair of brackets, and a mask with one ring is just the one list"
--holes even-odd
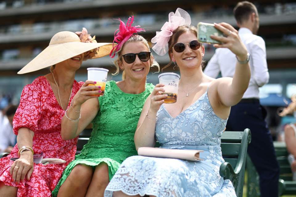
[(260, 104), (263, 106), (287, 107), (290, 102), (290, 98), (276, 93), (271, 93), (265, 98), (260, 98)]

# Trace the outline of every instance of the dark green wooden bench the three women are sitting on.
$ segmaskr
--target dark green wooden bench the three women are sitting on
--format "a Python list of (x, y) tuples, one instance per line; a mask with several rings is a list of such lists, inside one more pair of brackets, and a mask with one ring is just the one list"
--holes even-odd
[[(87, 143), (91, 129), (85, 129), (78, 138), (77, 152), (79, 154), (84, 144)], [(225, 160), (220, 166), (220, 175), (230, 179), (235, 188), (236, 196), (242, 197), (245, 176), (245, 161), (248, 144), (251, 142), (251, 132), (225, 131), (221, 137), (221, 151)]]

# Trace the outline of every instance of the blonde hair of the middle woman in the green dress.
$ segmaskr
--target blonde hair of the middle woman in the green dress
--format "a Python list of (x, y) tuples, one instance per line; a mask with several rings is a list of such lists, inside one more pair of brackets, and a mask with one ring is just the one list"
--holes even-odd
[[(114, 65), (116, 66), (116, 71), (115, 71), (115, 73), (114, 74), (112, 74), (112, 75), (117, 75), (118, 73), (119, 73), (119, 62), (122, 62), (122, 49), (123, 49), (123, 47), (125, 46), (125, 44), (126, 43), (130, 43), (130, 42), (142, 42), (146, 47), (147, 47), (147, 49), (149, 50), (149, 52), (151, 52), (150, 51), (150, 47), (149, 47), (149, 45), (148, 45), (148, 42), (147, 42), (147, 40), (145, 39), (145, 38), (143, 38), (142, 36), (140, 36), (140, 35), (138, 35), (138, 34), (134, 34), (134, 35), (132, 35), (122, 46), (121, 46), (121, 48), (120, 48), (120, 50), (119, 51), (117, 51), (117, 54), (118, 54), (118, 56), (117, 56), (117, 58), (114, 60)], [(150, 56), (150, 59), (149, 59), (149, 62), (150, 62), (150, 67), (154, 67), (154, 66), (156, 66), (157, 68), (158, 68), (158, 72), (159, 72), (159, 64), (154, 60), (154, 58), (153, 58), (153, 55), (151, 54), (151, 56)], [(125, 71), (123, 70), (123, 72), (122, 72), (122, 80), (124, 80), (125, 79)]]

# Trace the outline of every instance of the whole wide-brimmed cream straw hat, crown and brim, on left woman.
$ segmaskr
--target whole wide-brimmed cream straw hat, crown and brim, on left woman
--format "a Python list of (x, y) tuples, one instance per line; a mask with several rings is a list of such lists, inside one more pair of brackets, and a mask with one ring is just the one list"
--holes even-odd
[(31, 62), (24, 66), (18, 74), (24, 74), (55, 65), (66, 59), (75, 57), (89, 50), (99, 47), (93, 58), (100, 58), (109, 55), (113, 43), (88, 43), (81, 42), (79, 36), (70, 31), (56, 33), (47, 46)]

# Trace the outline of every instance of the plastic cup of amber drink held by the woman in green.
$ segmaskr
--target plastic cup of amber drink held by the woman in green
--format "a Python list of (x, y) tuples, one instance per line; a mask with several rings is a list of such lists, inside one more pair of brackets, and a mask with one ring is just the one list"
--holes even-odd
[(104, 96), (105, 86), (107, 81), (108, 69), (105, 68), (87, 68), (87, 79), (97, 82), (96, 84), (89, 84), (89, 86), (101, 86), (101, 96)]

